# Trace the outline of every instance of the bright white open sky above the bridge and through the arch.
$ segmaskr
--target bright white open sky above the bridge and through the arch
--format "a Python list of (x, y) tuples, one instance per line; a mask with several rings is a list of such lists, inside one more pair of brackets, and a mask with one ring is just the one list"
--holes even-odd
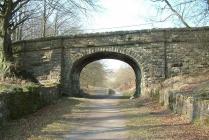
[[(109, 32), (117, 30), (140, 30), (150, 28), (165, 28), (170, 23), (149, 24), (151, 17), (156, 16), (156, 10), (148, 0), (100, 0), (101, 8), (90, 12), (84, 22), (84, 32)], [(109, 69), (126, 66), (118, 60), (103, 60)]]

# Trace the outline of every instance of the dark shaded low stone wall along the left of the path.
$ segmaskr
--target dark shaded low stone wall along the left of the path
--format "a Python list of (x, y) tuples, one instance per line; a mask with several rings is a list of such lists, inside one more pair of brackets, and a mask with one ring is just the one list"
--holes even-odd
[(0, 128), (11, 119), (18, 119), (49, 105), (60, 97), (57, 87), (35, 87), (0, 93)]

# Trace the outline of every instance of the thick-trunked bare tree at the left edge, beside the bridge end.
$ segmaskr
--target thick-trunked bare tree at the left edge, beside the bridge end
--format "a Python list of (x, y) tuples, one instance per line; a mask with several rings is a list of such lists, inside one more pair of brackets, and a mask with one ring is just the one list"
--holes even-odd
[[(5, 75), (10, 70), (12, 61), (11, 34), (28, 19), (27, 13), (20, 12), (29, 0), (1, 0), (0, 1), (0, 73)], [(21, 19), (17, 18), (24, 15)]]

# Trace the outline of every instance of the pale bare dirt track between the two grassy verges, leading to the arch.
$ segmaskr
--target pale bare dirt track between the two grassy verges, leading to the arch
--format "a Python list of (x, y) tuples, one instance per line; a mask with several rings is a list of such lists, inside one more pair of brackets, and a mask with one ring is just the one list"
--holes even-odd
[[(118, 99), (88, 99), (80, 105), (80, 111), (73, 113), (79, 124), (65, 138), (72, 140), (114, 140), (128, 137), (126, 120), (117, 107)], [(77, 122), (75, 122), (77, 123)]]

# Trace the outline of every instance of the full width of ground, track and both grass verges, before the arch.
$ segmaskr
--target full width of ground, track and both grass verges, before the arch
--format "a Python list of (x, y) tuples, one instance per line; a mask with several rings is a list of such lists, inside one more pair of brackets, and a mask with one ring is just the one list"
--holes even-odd
[[(104, 97), (104, 96), (102, 96)], [(107, 96), (106, 96), (107, 97)], [(62, 98), (11, 121), (1, 140), (207, 140), (209, 128), (189, 123), (147, 98)]]

